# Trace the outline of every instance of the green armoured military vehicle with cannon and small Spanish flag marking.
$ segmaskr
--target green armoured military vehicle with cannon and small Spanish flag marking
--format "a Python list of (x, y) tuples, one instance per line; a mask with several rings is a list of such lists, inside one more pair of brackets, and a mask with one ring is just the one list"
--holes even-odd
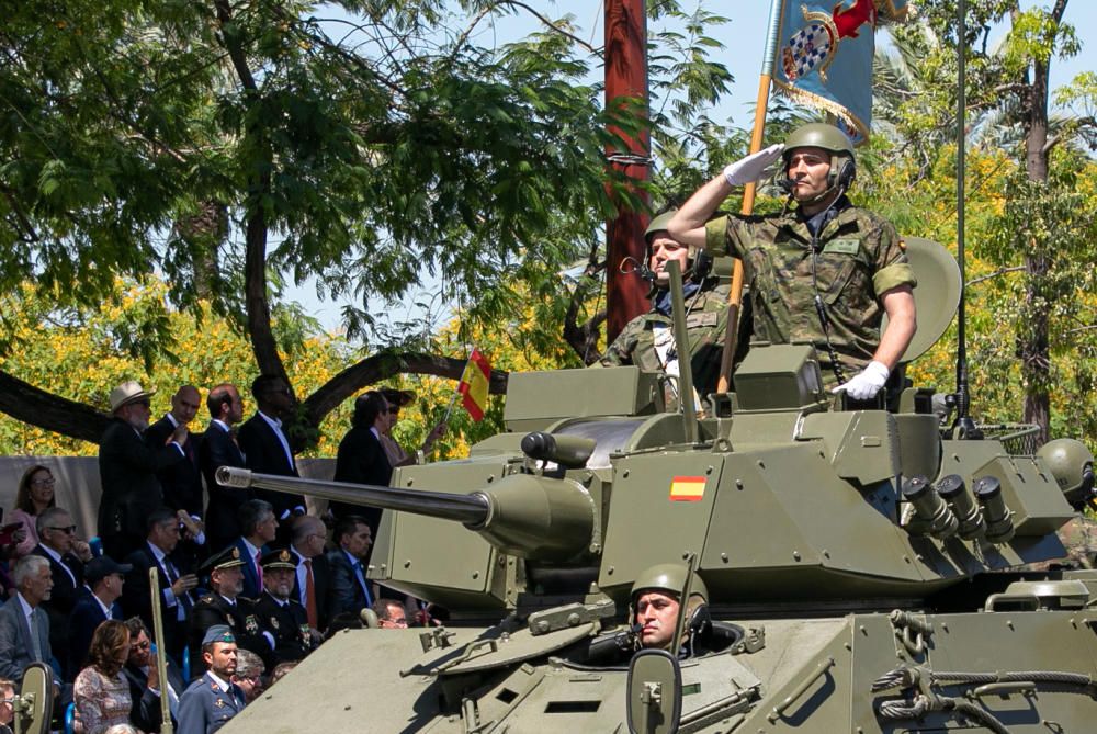
[[(909, 252), (907, 360), (959, 300), (943, 248)], [(838, 409), (810, 346), (753, 347), (704, 417), (663, 379), (512, 374), (507, 432), (392, 488), (222, 470), (396, 510), (369, 576), (450, 610), (336, 633), (223, 731), (1093, 731), (1097, 572), (1018, 571), (1065, 555), (1084, 447), (959, 436), (924, 389)], [(636, 653), (631, 590), (668, 563), (706, 614), (689, 654)]]

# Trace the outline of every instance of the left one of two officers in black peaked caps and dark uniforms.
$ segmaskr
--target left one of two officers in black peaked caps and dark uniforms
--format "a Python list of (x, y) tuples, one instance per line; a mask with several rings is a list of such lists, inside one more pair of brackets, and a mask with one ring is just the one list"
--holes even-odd
[(255, 601), (240, 596), (244, 589), (244, 558), (235, 545), (210, 556), (201, 571), (210, 575), (210, 594), (194, 603), (191, 612), (191, 669), (199, 671), (205, 665), (205, 654), (201, 652), (203, 640), (210, 628), (224, 624), (233, 632), (236, 644), (250, 650), (264, 662), (271, 658), (274, 645), (259, 628)]

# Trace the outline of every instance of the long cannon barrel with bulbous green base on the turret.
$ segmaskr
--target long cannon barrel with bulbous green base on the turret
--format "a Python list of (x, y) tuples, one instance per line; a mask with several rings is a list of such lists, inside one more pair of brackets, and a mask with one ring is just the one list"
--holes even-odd
[(504, 553), (531, 560), (566, 560), (588, 550), (595, 502), (581, 485), (532, 474), (505, 476), (490, 489), (467, 495), (366, 484), (303, 479), (222, 466), (217, 482), (400, 510), (460, 522)]

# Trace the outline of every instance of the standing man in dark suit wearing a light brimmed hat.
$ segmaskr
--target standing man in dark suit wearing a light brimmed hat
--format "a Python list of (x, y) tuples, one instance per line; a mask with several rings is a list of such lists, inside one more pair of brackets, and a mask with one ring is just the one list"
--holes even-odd
[(145, 518), (163, 504), (156, 473), (184, 459), (186, 426), (172, 431), (165, 445), (149, 447), (143, 434), (148, 428), (149, 396), (136, 382), (111, 391), (114, 418), (99, 442), (99, 537), (113, 558), (124, 558), (145, 538)]

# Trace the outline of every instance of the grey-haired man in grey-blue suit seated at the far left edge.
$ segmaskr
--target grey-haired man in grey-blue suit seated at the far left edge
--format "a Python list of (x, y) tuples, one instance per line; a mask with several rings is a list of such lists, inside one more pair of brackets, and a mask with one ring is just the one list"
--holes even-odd
[(31, 663), (48, 664), (49, 617), (39, 609), (49, 598), (54, 578), (49, 562), (38, 555), (19, 560), (12, 573), (15, 595), (0, 606), (0, 678), (21, 680)]

